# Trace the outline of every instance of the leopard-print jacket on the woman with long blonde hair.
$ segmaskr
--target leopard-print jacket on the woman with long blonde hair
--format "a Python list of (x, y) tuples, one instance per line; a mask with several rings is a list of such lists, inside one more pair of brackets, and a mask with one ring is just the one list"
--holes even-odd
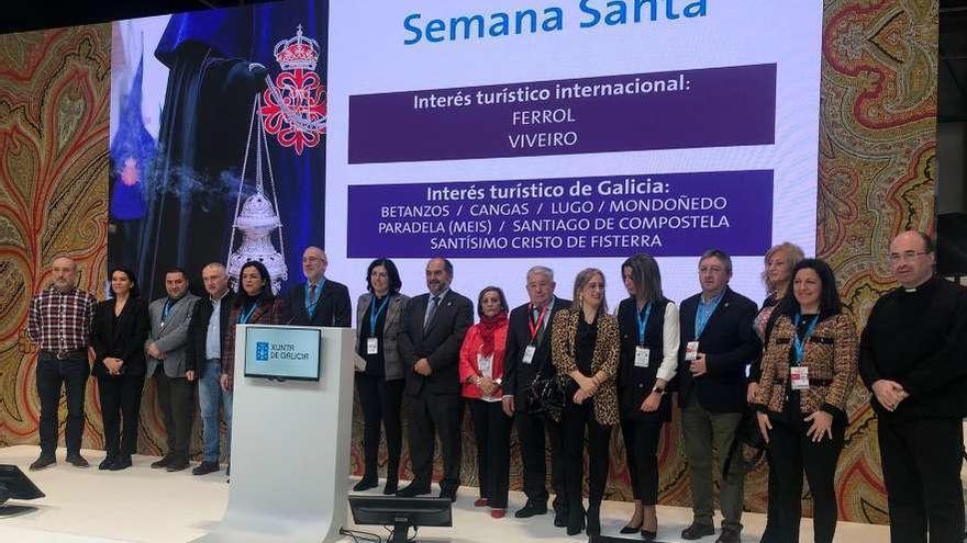
[[(552, 362), (557, 370), (557, 378), (560, 381), (562, 387), (565, 391), (570, 391), (569, 394), (574, 394), (576, 391), (571, 385), (573, 380), (569, 374), (578, 369), (575, 362), (574, 342), (579, 318), (582, 318), (579, 308), (562, 309), (554, 315), (553, 328), (551, 329)], [(596, 374), (601, 372), (604, 375), (604, 381), (593, 396), (594, 420), (600, 425), (618, 423), (618, 389), (614, 385), (614, 377), (618, 374), (620, 350), (618, 319), (612, 315), (599, 315), (598, 340), (591, 357), (591, 370)]]

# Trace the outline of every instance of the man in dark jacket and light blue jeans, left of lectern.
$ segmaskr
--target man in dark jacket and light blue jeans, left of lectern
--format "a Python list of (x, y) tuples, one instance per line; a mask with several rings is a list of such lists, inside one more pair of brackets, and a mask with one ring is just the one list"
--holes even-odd
[(224, 404), (225, 423), (232, 431), (232, 392), (221, 386), (222, 337), (229, 326), (229, 312), (235, 293), (229, 289), (225, 267), (212, 262), (201, 270), (208, 296), (194, 304), (188, 325), (187, 367), (198, 378), (198, 406), (201, 410), (201, 437), (204, 453), (201, 464), (191, 471), (205, 475), (219, 471), (219, 405)]

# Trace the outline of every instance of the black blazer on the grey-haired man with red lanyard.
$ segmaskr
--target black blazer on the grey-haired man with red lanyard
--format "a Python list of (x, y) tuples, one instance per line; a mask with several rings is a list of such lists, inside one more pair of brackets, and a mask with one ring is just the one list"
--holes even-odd
[(544, 336), (534, 351), (534, 359), (530, 364), (522, 362), (524, 350), (531, 342), (531, 320), (530, 308), (531, 303), (514, 307), (510, 312), (510, 323), (507, 330), (507, 353), (503, 359), (503, 378), (501, 387), (503, 393), (513, 396), (518, 391), (524, 388), (534, 382), (534, 377), (540, 372), (544, 376), (553, 376), (554, 364), (551, 363), (551, 330), (553, 328), (554, 315), (562, 309), (570, 307), (570, 299), (554, 297), (554, 306), (551, 308), (551, 315), (544, 316), (545, 326)]

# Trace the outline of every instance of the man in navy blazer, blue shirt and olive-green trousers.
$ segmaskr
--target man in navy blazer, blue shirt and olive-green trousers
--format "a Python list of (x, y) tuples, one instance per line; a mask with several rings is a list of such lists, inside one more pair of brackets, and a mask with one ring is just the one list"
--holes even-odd
[[(682, 302), (679, 314), (678, 404), (693, 514), (681, 532), (686, 540), (715, 533), (712, 449), (719, 453), (715, 473), (721, 477), (746, 405), (745, 367), (762, 349), (752, 327), (757, 307), (729, 289), (732, 259), (720, 250), (705, 251), (699, 260), (702, 292)], [(716, 543), (740, 541), (743, 476), (736, 462), (721, 482), (724, 520)]]

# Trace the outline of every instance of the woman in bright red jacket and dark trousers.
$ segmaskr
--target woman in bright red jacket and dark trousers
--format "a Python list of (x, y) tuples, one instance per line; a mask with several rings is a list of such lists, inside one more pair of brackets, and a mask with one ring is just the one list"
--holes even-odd
[(510, 425), (503, 412), (503, 357), (507, 346), (507, 298), (497, 286), (480, 291), (477, 315), (460, 348), (463, 395), (470, 405), (477, 434), (477, 478), (480, 498), (475, 507), (490, 506), (490, 516), (500, 519), (507, 509), (510, 485)]

